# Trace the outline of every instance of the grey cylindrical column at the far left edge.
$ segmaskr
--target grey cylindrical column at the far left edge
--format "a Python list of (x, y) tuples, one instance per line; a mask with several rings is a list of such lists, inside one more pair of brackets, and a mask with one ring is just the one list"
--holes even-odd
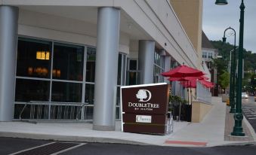
[(0, 121), (14, 115), (18, 16), (18, 8), (0, 5)]

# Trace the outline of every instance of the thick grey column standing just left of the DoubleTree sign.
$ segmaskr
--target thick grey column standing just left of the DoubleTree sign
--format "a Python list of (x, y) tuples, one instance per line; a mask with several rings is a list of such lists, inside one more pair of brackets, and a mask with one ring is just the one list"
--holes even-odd
[(115, 130), (120, 10), (98, 8), (94, 90), (95, 130)]

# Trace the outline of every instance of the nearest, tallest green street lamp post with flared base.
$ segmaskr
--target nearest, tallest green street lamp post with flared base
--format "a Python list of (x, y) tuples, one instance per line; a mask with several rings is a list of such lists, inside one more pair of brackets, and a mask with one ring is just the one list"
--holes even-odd
[[(227, 5), (226, 0), (216, 0), (216, 5)], [(235, 136), (245, 136), (242, 131), (242, 50), (243, 50), (243, 34), (244, 34), (244, 13), (245, 4), (242, 0), (240, 5), (240, 27), (239, 27), (239, 60), (238, 60), (238, 78), (236, 81), (237, 93), (236, 93), (236, 114), (234, 114), (235, 126), (233, 127), (233, 132), (231, 135)]]

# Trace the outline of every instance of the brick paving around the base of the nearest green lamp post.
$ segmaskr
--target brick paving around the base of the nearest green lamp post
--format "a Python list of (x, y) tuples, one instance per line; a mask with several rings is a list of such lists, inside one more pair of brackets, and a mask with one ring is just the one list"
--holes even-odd
[[(244, 117), (245, 119), (245, 117)], [(251, 135), (250, 130), (245, 124), (245, 121), (242, 120), (242, 129), (245, 133), (245, 136), (232, 136), (230, 135), (230, 132), (233, 132), (233, 126), (234, 126), (234, 118), (233, 114), (230, 114), (230, 107), (227, 106), (226, 108), (226, 120), (225, 120), (225, 135), (224, 135), (224, 141), (253, 141), (253, 137)]]

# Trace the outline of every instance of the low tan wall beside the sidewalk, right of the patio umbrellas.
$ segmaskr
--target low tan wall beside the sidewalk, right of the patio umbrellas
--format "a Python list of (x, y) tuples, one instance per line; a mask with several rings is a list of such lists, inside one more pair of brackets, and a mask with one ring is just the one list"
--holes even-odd
[(212, 105), (205, 104), (202, 102), (192, 102), (192, 118), (191, 122), (200, 123), (205, 115), (210, 111)]

